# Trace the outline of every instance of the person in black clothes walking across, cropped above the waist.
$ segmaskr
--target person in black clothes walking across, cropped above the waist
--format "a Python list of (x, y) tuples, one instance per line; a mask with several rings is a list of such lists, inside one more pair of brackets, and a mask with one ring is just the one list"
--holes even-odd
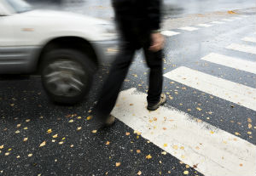
[(166, 102), (162, 94), (162, 48), (164, 37), (160, 34), (161, 0), (113, 0), (115, 20), (121, 36), (120, 52), (113, 61), (107, 80), (94, 108), (103, 126), (110, 126), (119, 90), (137, 49), (143, 48), (148, 67), (148, 111), (154, 111)]

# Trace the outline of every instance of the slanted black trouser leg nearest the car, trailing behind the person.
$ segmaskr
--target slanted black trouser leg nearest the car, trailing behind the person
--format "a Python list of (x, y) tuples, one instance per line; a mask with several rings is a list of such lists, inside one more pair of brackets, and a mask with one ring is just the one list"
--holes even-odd
[(121, 48), (121, 53), (113, 61), (108, 78), (103, 84), (102, 93), (94, 109), (96, 116), (102, 118), (102, 120), (105, 120), (113, 110), (134, 54), (135, 49), (125, 45), (125, 47)]

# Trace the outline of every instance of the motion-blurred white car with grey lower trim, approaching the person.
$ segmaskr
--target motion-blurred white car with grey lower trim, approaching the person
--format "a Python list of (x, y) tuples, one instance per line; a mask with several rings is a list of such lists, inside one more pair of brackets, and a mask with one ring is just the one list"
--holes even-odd
[(56, 102), (83, 99), (98, 65), (112, 60), (117, 41), (108, 21), (0, 0), (0, 74), (40, 73)]

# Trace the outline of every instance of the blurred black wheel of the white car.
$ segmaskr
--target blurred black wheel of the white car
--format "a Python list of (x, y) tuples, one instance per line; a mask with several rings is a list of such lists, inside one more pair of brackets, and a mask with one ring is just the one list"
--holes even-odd
[(78, 103), (90, 91), (95, 68), (88, 56), (78, 50), (50, 51), (41, 63), (44, 90), (56, 103)]

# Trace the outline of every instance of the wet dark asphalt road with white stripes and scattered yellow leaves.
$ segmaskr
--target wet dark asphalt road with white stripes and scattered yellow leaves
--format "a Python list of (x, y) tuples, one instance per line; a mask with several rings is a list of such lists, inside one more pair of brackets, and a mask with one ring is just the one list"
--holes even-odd
[(148, 69), (138, 51), (113, 111), (117, 122), (96, 133), (90, 110), (108, 66), (74, 106), (50, 102), (39, 77), (0, 77), (0, 175), (253, 176), (255, 14), (166, 19), (166, 105), (143, 109)]

